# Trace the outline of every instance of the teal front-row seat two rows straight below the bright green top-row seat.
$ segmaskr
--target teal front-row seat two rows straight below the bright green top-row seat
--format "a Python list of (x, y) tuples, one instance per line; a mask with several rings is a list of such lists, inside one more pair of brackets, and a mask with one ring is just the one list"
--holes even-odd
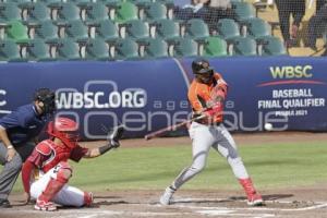
[(138, 60), (138, 45), (131, 38), (118, 39), (114, 45), (116, 60)]

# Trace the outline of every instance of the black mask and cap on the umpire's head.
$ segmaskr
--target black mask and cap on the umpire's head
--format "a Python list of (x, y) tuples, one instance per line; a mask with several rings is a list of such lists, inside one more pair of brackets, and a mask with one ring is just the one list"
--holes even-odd
[(44, 114), (52, 114), (56, 111), (56, 95), (49, 88), (40, 88), (34, 94), (34, 100), (43, 102), (40, 106)]

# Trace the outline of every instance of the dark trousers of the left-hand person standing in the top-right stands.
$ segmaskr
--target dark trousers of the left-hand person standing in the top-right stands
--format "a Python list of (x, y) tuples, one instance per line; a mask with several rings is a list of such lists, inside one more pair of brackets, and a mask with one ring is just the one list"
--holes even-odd
[(305, 14), (305, 0), (276, 0), (280, 29), (284, 41), (290, 39), (290, 17), (293, 25), (299, 26)]

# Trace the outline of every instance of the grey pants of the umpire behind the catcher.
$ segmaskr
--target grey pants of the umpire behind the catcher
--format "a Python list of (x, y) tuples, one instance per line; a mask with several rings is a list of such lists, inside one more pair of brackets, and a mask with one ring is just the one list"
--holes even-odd
[(2, 143), (0, 143), (0, 164), (3, 166), (3, 169), (0, 172), (0, 199), (8, 198), (21, 172), (23, 162), (32, 154), (34, 147), (34, 143), (26, 143), (22, 146), (15, 147), (17, 153), (13, 159), (8, 162), (8, 149)]

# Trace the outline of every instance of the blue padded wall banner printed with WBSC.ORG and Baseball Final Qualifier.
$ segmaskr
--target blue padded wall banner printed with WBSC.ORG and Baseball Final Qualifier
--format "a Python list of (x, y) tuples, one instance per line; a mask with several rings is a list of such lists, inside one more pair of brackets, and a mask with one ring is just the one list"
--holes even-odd
[[(75, 118), (83, 138), (105, 138), (124, 123), (128, 137), (190, 117), (192, 59), (0, 64), (0, 116), (32, 100), (39, 87), (57, 92), (58, 114)], [(223, 58), (211, 65), (229, 84), (231, 131), (326, 131), (326, 58)], [(185, 134), (182, 130), (174, 134)]]

